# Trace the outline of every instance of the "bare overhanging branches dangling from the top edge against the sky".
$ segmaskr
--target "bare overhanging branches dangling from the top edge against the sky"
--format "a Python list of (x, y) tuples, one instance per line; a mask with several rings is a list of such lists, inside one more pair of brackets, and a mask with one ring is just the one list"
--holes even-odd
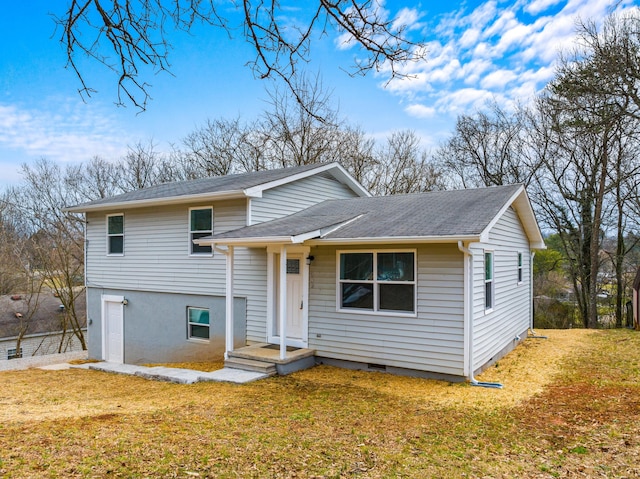
[[(366, 74), (383, 66), (392, 78), (404, 76), (402, 64), (423, 58), (425, 48), (408, 40), (407, 26), (389, 15), (378, 0), (318, 0), (298, 17), (277, 0), (242, 0), (220, 4), (214, 0), (69, 0), (64, 14), (54, 15), (62, 29), (61, 42), (71, 69), (80, 79), (82, 95), (94, 90), (85, 82), (79, 58), (104, 64), (118, 78), (118, 103), (145, 109), (150, 85), (145, 69), (168, 71), (170, 29), (191, 32), (206, 24), (227, 32), (241, 27), (253, 47), (250, 62), (259, 78), (284, 81), (300, 103), (295, 79), (299, 65), (310, 59), (314, 37), (336, 30), (345, 42), (360, 47), (352, 74)], [(310, 8), (308, 8), (310, 7)], [(228, 16), (227, 16), (228, 15)]]

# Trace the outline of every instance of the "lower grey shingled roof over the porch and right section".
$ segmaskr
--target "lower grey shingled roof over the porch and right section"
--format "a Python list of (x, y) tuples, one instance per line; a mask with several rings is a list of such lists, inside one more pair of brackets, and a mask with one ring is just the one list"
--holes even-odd
[(214, 235), (214, 240), (288, 237), (331, 230), (325, 239), (480, 235), (520, 185), (328, 200), (285, 218)]

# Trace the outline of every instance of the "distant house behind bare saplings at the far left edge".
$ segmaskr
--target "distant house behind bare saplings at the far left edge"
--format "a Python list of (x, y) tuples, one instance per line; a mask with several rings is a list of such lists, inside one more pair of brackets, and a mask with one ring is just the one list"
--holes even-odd
[[(85, 317), (86, 298), (80, 296), (75, 307)], [(0, 296), (0, 360), (55, 354), (61, 343), (62, 352), (81, 350), (70, 328), (63, 334), (63, 317), (64, 308), (52, 293), (41, 293), (37, 299)]]

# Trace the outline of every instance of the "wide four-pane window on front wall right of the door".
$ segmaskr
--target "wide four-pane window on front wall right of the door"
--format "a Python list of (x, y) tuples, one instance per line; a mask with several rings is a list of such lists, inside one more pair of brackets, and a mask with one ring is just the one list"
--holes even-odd
[(415, 251), (339, 251), (338, 309), (413, 314)]

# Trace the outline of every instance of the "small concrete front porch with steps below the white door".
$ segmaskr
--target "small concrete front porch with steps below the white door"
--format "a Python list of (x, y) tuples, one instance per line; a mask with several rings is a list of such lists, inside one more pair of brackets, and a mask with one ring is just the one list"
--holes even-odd
[(258, 343), (230, 351), (224, 367), (282, 376), (315, 366), (314, 355), (313, 349), (287, 347), (286, 358), (280, 359), (280, 346)]

